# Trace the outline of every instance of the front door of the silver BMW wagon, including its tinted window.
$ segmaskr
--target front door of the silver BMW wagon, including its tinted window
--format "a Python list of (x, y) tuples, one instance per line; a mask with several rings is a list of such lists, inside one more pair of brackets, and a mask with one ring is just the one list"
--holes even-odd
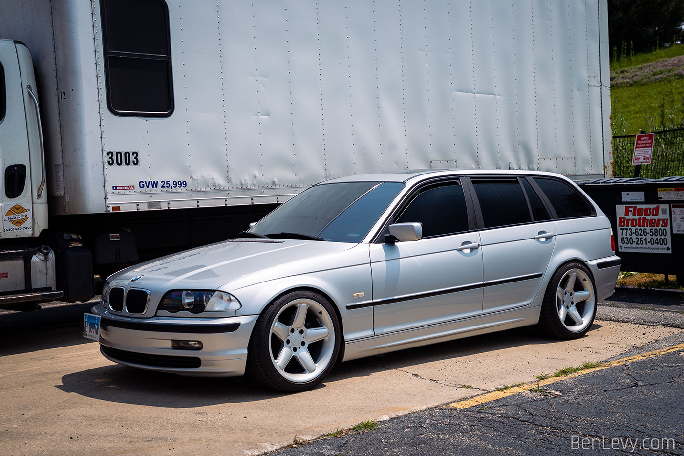
[(423, 238), (370, 245), (376, 335), (482, 314), (482, 254), (467, 212), (458, 179), (423, 186), (393, 217), (421, 223)]

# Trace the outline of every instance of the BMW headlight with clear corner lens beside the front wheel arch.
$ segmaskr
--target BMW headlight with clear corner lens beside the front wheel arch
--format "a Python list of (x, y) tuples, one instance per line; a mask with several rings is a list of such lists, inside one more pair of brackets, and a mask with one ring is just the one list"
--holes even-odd
[(157, 310), (166, 310), (172, 314), (181, 310), (200, 314), (201, 312), (239, 310), (240, 307), (242, 307), (240, 301), (230, 293), (207, 290), (175, 290), (164, 295)]

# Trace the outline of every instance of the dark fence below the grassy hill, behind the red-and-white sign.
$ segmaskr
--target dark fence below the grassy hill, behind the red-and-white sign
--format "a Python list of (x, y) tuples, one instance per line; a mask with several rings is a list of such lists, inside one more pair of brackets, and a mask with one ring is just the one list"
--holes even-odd
[[(684, 128), (654, 131), (653, 157), (641, 165), (640, 177), (684, 176)], [(613, 176), (634, 177), (632, 155), (636, 135), (613, 136)]]

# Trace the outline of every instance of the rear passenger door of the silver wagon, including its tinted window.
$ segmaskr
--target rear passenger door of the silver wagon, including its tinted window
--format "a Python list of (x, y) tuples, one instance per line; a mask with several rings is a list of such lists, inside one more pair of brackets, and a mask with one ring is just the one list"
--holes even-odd
[(482, 312), (528, 305), (551, 260), (556, 223), (525, 177), (473, 177), (471, 183), (482, 242)]

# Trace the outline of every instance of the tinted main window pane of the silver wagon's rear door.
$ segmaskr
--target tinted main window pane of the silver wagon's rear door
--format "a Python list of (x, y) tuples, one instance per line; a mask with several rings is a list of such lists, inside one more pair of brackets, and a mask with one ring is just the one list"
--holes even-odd
[(485, 228), (531, 222), (518, 179), (473, 179)]

